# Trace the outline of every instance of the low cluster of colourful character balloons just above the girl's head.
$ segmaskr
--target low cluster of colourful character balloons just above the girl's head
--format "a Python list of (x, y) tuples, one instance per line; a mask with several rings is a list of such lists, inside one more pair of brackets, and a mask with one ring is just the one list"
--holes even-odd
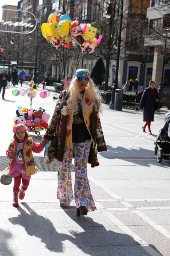
[(24, 124), (28, 127), (29, 132), (35, 134), (48, 128), (48, 120), (50, 115), (47, 114), (45, 109), (39, 108), (31, 110), (28, 108), (18, 107), (16, 110), (16, 117), (14, 118), (14, 125)]

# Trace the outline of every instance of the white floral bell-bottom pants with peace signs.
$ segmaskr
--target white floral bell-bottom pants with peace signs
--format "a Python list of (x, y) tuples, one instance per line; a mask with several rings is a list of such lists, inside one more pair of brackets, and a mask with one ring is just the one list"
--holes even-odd
[[(75, 197), (76, 208), (85, 206), (88, 211), (96, 210), (90, 185), (87, 178), (87, 162), (90, 152), (90, 140), (86, 142), (73, 143), (71, 148), (64, 149), (64, 158), (59, 162), (57, 198), (60, 206), (67, 206)], [(74, 196), (71, 184), (71, 161), (75, 159), (75, 184)]]

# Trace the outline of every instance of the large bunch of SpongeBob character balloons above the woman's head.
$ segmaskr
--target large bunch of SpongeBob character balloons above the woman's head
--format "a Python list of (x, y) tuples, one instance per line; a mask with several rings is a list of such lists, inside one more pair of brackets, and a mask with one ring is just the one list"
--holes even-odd
[(70, 48), (71, 42), (72, 46), (80, 46), (82, 52), (89, 54), (94, 52), (103, 37), (100, 35), (99, 39), (95, 38), (97, 32), (95, 27), (91, 27), (90, 24), (80, 24), (77, 18), (72, 21), (67, 14), (61, 16), (50, 14), (47, 23), (42, 24), (41, 32), (57, 49), (61, 45)]

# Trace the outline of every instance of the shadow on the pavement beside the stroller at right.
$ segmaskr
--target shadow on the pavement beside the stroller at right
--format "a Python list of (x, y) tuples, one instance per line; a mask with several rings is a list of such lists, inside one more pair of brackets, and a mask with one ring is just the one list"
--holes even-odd
[[(105, 152), (100, 152), (100, 155), (104, 158), (108, 159), (122, 159), (127, 162), (137, 163), (141, 166), (150, 166), (156, 165), (168, 168), (169, 169), (169, 160), (163, 159), (161, 163), (158, 163), (156, 159), (154, 159), (154, 150), (149, 150), (142, 147), (137, 148), (124, 148), (124, 147), (111, 147), (107, 145), (107, 150), (113, 157), (110, 157), (109, 154), (106, 155)], [(116, 157), (117, 156), (117, 157)], [(151, 160), (151, 161), (150, 161)], [(140, 161), (140, 162), (139, 162)], [(142, 163), (141, 163), (142, 161)], [(100, 162), (100, 161), (99, 161)]]

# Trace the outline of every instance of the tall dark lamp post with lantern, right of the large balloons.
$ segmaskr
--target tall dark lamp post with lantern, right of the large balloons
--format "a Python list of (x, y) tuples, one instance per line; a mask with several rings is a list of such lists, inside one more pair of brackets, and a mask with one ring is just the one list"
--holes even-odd
[[(114, 83), (112, 86), (112, 94), (111, 94), (111, 102), (109, 104), (110, 109), (114, 109), (114, 101), (115, 101), (115, 90), (118, 89), (118, 71), (119, 71), (119, 59), (120, 59), (120, 45), (122, 42), (121, 33), (122, 33), (122, 20), (123, 20), (123, 0), (121, 0), (120, 4), (120, 27), (119, 27), (119, 37), (118, 37), (118, 46), (117, 46), (117, 57), (116, 57), (116, 67), (115, 67), (115, 77)], [(105, 17), (111, 17), (111, 4), (108, 5), (107, 11), (105, 12)]]

